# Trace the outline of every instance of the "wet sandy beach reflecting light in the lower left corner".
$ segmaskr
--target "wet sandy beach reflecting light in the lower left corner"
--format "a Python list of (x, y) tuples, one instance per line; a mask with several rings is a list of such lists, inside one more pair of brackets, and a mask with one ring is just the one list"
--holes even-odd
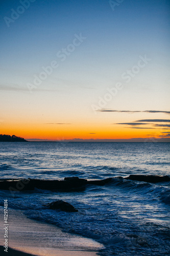
[[(94, 256), (102, 247), (101, 244), (92, 239), (62, 232), (60, 228), (53, 224), (28, 219), (20, 210), (9, 210), (8, 223), (8, 255)], [(2, 222), (1, 226), (3, 227), (3, 225)], [(1, 232), (0, 244), (3, 245), (3, 243), (4, 236)], [(1, 255), (7, 255), (3, 247), (1, 247)]]

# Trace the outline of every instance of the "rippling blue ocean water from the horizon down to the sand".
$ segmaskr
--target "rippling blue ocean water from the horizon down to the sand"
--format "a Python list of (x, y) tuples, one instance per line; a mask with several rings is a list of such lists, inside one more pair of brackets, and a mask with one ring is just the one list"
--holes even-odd
[[(170, 182), (125, 180), (131, 175), (169, 175), (169, 143), (0, 142), (0, 178), (86, 179), (113, 177), (82, 191), (0, 190), (1, 204), (31, 219), (53, 223), (104, 245), (99, 254), (170, 254)], [(78, 212), (46, 209), (64, 200)]]

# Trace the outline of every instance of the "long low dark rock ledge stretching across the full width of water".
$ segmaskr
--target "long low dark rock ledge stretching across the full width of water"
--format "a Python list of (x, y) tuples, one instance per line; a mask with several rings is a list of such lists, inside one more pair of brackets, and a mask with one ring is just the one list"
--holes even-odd
[[(114, 179), (123, 179), (122, 177), (107, 178), (103, 180), (86, 180), (79, 177), (65, 177), (64, 180), (43, 180), (43, 179), (0, 179), (0, 189), (10, 190), (11, 192), (22, 190), (46, 189), (62, 191), (82, 191), (86, 185), (103, 186)], [(145, 182), (167, 182), (170, 176), (155, 175), (130, 175), (128, 180), (145, 181)]]

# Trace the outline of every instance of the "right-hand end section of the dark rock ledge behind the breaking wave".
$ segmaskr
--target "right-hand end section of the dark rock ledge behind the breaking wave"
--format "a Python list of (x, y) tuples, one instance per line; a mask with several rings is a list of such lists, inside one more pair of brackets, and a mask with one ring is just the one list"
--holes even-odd
[(156, 176), (156, 175), (130, 175), (129, 177), (127, 177), (125, 179), (145, 181), (145, 182), (150, 182), (150, 183), (170, 181), (169, 176)]

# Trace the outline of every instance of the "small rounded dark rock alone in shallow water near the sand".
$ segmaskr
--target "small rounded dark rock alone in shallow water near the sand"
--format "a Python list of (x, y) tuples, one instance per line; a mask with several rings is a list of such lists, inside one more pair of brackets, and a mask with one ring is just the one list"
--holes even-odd
[(71, 204), (63, 201), (63, 200), (57, 200), (54, 201), (52, 203), (47, 204), (46, 206), (48, 206), (50, 209), (59, 209), (59, 210), (63, 210), (63, 211), (70, 211), (70, 212), (77, 212), (78, 210), (72, 206)]

